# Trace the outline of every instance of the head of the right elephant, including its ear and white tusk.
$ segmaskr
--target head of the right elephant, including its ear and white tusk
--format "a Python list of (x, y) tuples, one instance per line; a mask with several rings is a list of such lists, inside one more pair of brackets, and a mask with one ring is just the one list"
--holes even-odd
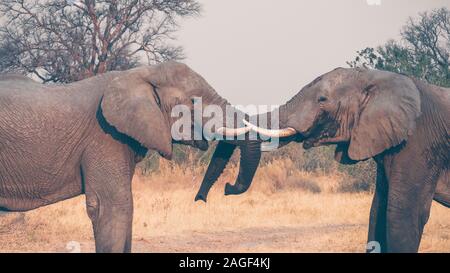
[(402, 144), (415, 129), (420, 94), (410, 78), (338, 68), (315, 79), (281, 107), (286, 128), (260, 134), (301, 135), (303, 147), (337, 144), (335, 159), (352, 164)]

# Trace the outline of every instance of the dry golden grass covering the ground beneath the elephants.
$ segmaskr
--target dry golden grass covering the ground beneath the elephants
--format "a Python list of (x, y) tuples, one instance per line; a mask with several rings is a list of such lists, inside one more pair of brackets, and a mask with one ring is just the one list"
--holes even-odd
[[(225, 197), (228, 168), (208, 203), (193, 199), (203, 171), (162, 162), (160, 171), (136, 175), (134, 251), (362, 252), (371, 194), (340, 193), (346, 176), (296, 171), (289, 160), (260, 168), (250, 191)], [(84, 197), (0, 217), (0, 251), (66, 250), (70, 241), (93, 251)], [(450, 252), (450, 213), (433, 205), (422, 252)]]

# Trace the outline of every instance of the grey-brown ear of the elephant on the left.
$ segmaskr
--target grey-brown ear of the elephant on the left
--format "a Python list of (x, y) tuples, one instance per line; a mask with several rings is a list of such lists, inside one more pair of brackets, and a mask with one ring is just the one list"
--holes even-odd
[(103, 116), (119, 132), (170, 159), (172, 137), (158, 95), (142, 73), (133, 72), (112, 81), (101, 102)]

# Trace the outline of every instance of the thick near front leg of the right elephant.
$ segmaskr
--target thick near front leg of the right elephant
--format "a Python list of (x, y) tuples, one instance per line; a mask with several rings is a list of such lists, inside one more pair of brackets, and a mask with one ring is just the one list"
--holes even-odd
[(389, 178), (387, 252), (417, 252), (430, 215), (437, 175), (410, 166), (394, 168)]

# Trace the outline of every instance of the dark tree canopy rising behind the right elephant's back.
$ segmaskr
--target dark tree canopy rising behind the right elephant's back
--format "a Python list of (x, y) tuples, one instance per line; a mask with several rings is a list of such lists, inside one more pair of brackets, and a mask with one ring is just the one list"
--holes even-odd
[(410, 18), (401, 38), (358, 51), (348, 64), (403, 73), (450, 87), (450, 10), (441, 8)]

